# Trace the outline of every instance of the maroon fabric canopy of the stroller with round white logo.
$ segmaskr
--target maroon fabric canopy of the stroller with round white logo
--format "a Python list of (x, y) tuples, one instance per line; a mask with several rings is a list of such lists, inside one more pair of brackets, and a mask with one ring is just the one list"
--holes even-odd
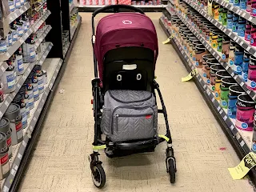
[(110, 14), (98, 22), (94, 53), (98, 61), (99, 77), (103, 76), (103, 58), (117, 47), (144, 46), (154, 51), (154, 65), (158, 58), (158, 37), (153, 22), (144, 14)]

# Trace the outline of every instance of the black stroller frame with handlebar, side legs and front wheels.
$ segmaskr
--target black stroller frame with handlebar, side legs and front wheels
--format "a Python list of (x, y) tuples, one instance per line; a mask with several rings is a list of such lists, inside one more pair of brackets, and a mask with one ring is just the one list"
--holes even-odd
[[(127, 6), (127, 5), (111, 5), (111, 6), (104, 6), (98, 10), (95, 10), (92, 14), (92, 46), (94, 51), (94, 43), (95, 43), (95, 32), (94, 32), (94, 17), (102, 12), (106, 12), (106, 10), (114, 10), (114, 13), (120, 12), (120, 9), (126, 9), (126, 10), (133, 10), (135, 12), (138, 12), (140, 14), (144, 14), (144, 12), (134, 6)], [(159, 89), (158, 83), (153, 80), (153, 87), (152, 92), (155, 96), (155, 91), (158, 92), (158, 97), (160, 98), (162, 109), (158, 109), (158, 114), (163, 114), (166, 122), (166, 134), (165, 135), (158, 135), (158, 138), (151, 138), (143, 141), (135, 141), (135, 142), (111, 142), (107, 139), (104, 141), (102, 139), (102, 130), (101, 130), (101, 123), (100, 118), (102, 117), (102, 106), (104, 104), (103, 102), (103, 95), (102, 95), (102, 87), (101, 87), (101, 80), (98, 78), (98, 64), (97, 64), (97, 58), (95, 53), (94, 54), (94, 79), (91, 81), (92, 84), (92, 93), (93, 93), (93, 100), (91, 104), (93, 104), (93, 111), (94, 111), (94, 142), (93, 142), (93, 153), (89, 155), (89, 162), (90, 162), (90, 170), (92, 179), (94, 182), (94, 185), (98, 188), (102, 188), (105, 186), (106, 183), (106, 174), (102, 167), (102, 162), (99, 160), (98, 156), (99, 150), (107, 150), (115, 149), (115, 150), (121, 150), (121, 151), (127, 151), (127, 150), (138, 150), (137, 153), (140, 152), (146, 152), (146, 151), (154, 151), (154, 147), (157, 146), (160, 142), (167, 142), (167, 148), (166, 148), (166, 172), (170, 174), (170, 182), (175, 182), (175, 173), (177, 171), (176, 168), (176, 159), (174, 158), (174, 149), (172, 145), (172, 139), (170, 135), (170, 127), (169, 122), (167, 118), (166, 113), (166, 106), (163, 102), (162, 93)], [(145, 148), (148, 148), (148, 150), (145, 150)], [(139, 151), (141, 150), (141, 151)], [(106, 155), (110, 158), (112, 156)]]

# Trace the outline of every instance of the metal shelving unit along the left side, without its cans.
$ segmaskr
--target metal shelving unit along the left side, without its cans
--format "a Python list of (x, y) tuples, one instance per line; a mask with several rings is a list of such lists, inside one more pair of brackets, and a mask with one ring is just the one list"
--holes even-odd
[[(34, 3), (37, 3), (37, 5), (34, 6)], [(43, 10), (43, 8), (46, 8), (46, 3), (48, 9)], [(1, 35), (6, 35), (9, 33), (9, 24), (18, 19), (22, 14), (27, 12), (26, 14), (28, 15), (31, 13), (40, 15), (40, 18), (35, 18), (36, 22), (34, 22), (33, 25), (31, 25), (30, 22), (29, 29), (22, 34), (22, 37), (18, 38), (18, 41), (8, 47), (5, 53), (0, 54), (1, 77), (8, 68), (8, 65), (10, 65), (7, 64), (6, 61), (12, 57), (23, 43), (28, 43), (28, 38), (32, 39), (32, 37), (36, 37), (34, 41), (30, 42), (30, 45), (36, 50), (36, 60), (34, 62), (24, 63), (25, 72), (17, 76), (14, 85), (15, 90), (10, 94), (4, 94), (4, 101), (0, 103), (0, 118), (2, 118), (8, 106), (10, 106), (14, 97), (18, 94), (18, 91), (30, 76), (30, 72), (34, 70), (35, 65), (42, 66), (42, 70), (47, 71), (48, 82), (44, 87), (44, 92), (40, 94), (38, 101), (34, 102), (33, 110), (30, 110), (30, 118), (27, 119), (26, 129), (23, 129), (23, 141), (12, 146), (13, 156), (9, 160), (10, 174), (1, 181), (1, 192), (17, 191), (22, 174), (24, 170), (26, 170), (26, 164), (29, 162), (30, 153), (33, 151), (38, 135), (42, 130), (42, 122), (44, 121), (47, 109), (50, 106), (51, 99), (58, 86), (58, 82), (62, 78), (66, 62), (70, 57), (74, 41), (82, 22), (82, 18), (78, 16), (74, 27), (70, 29), (70, 26), (67, 26), (65, 28), (70, 35), (68, 38), (70, 42), (68, 42), (65, 47), (62, 46), (62, 20), (63, 18), (70, 18), (70, 14), (73, 11), (74, 4), (70, 4), (69, 0), (62, 0), (62, 4), (60, 1), (38, 0), (34, 2), (28, 0), (21, 8), (14, 10), (14, 12), (2, 18), (0, 28), (2, 28), (3, 33)], [(70, 25), (70, 20), (68, 20), (67, 23)]]

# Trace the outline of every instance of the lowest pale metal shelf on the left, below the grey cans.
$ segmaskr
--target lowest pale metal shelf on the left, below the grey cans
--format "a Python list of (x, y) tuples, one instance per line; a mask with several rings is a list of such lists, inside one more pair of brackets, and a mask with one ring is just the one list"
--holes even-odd
[[(3, 179), (1, 183), (3, 192), (7, 192), (10, 190), (10, 186), (12, 185), (14, 177), (21, 164), (22, 156), (26, 151), (26, 146), (30, 141), (39, 115), (41, 114), (43, 106), (45, 105), (48, 94), (52, 90), (58, 72), (61, 69), (62, 62), (63, 61), (60, 58), (47, 58), (46, 61), (42, 64), (42, 68), (37, 69), (42, 70), (42, 74), (47, 73), (47, 76), (42, 75), (40, 78), (38, 78), (38, 84), (39, 81), (42, 81), (42, 84), (40, 84), (40, 86), (38, 85), (38, 96), (36, 99), (34, 98), (33, 108), (30, 109), (30, 117), (26, 119), (26, 128), (22, 129), (21, 134), (19, 134), (21, 139), (18, 140), (18, 143), (12, 146), (12, 158), (10, 158), (9, 161), (10, 174), (5, 179)], [(32, 86), (33, 84), (34, 83), (32, 83)], [(41, 90), (39, 90), (40, 87), (42, 88)], [(34, 91), (32, 92), (34, 93)]]

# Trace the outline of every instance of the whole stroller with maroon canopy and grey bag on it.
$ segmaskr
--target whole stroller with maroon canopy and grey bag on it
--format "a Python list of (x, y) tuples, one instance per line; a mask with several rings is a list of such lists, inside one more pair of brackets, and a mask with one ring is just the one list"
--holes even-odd
[[(114, 14), (98, 22), (95, 35), (94, 17), (110, 10)], [(134, 6), (104, 6), (92, 14), (92, 33), (94, 142), (89, 161), (94, 185), (102, 188), (106, 183), (99, 150), (114, 158), (154, 152), (164, 141), (166, 171), (174, 183), (177, 169), (166, 106), (154, 76), (158, 38), (153, 22)], [(162, 103), (160, 110), (155, 90)], [(166, 134), (158, 134), (158, 114), (164, 115)]]

